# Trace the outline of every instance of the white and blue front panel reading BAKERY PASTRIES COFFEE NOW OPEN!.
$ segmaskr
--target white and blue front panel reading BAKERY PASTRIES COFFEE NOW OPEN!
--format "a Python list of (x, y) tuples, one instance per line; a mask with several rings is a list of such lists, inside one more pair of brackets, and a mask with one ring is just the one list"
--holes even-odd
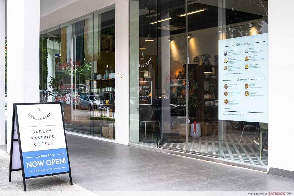
[(16, 105), (25, 177), (69, 172), (60, 103)]

